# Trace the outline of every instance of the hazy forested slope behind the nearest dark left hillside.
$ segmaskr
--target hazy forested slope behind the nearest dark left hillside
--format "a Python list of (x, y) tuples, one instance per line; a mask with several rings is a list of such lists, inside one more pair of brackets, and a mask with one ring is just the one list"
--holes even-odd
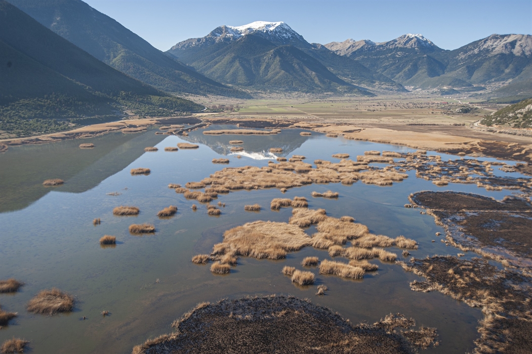
[(10, 2), (98, 60), (163, 91), (250, 97), (165, 55), (80, 0)]

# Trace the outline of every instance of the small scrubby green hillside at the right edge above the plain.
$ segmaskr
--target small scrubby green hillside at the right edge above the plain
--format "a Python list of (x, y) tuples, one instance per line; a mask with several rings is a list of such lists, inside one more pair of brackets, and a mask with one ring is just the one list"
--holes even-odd
[(532, 128), (532, 98), (506, 106), (484, 117), (480, 124), (510, 128)]

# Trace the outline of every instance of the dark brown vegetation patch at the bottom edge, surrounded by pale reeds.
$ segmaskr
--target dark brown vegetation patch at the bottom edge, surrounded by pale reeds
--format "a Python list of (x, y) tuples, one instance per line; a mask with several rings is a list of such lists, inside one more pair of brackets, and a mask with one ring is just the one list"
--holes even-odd
[(327, 308), (295, 297), (226, 299), (198, 304), (174, 321), (174, 333), (137, 345), (132, 353), (406, 354), (437, 345), (434, 328), (414, 331), (413, 319), (403, 318), (390, 314), (373, 325), (352, 325)]

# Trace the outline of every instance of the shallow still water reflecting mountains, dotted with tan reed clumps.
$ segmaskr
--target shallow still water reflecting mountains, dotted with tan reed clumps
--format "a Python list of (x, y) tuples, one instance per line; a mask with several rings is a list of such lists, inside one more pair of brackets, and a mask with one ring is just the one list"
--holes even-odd
[[(235, 127), (209, 129), (221, 128)], [(373, 233), (389, 237), (402, 234), (417, 240), (419, 249), (411, 251), (414, 257), (455, 255), (460, 250), (445, 246), (435, 236), (436, 232), (443, 233), (443, 229), (435, 225), (433, 217), (403, 207), (409, 194), (420, 190), (455, 190), (501, 199), (511, 191), (486, 191), (474, 184), (440, 188), (409, 172), (408, 179), (390, 187), (359, 181), (352, 186), (312, 184), (286, 193), (277, 189), (232, 192), (219, 196), (218, 200), (226, 203), (226, 207), (222, 208), (222, 215), (211, 217), (206, 214), (205, 205), (186, 200), (167, 186), (200, 181), (220, 170), (225, 165), (211, 163), (220, 155), (229, 156), (229, 166), (235, 167), (267, 165), (268, 159), (244, 155), (263, 158), (270, 147), (282, 147), (284, 152), (280, 156), (304, 155), (309, 163), (318, 158), (337, 161), (331, 157), (335, 153), (348, 153), (356, 158), (366, 150), (413, 149), (327, 138), (314, 132), (310, 137), (301, 137), (300, 130), (285, 130), (271, 136), (206, 136), (202, 132), (194, 131), (184, 137), (200, 144), (195, 150), (164, 151), (164, 147), (176, 146), (184, 140), (155, 136), (148, 131), (131, 136), (107, 134), (83, 141), (96, 145), (89, 151), (80, 151), (77, 147), (80, 141), (71, 140), (13, 147), (0, 155), (2, 210), (14, 210), (0, 214), (0, 279), (15, 277), (26, 283), (16, 294), (0, 295), (3, 309), (19, 313), (0, 331), (2, 341), (12, 336), (26, 338), (31, 341), (32, 353), (128, 353), (135, 344), (170, 332), (171, 322), (197, 302), (284, 293), (308, 297), (353, 323), (373, 323), (389, 313), (400, 312), (413, 317), (418, 325), (437, 327), (440, 346), (424, 352), (465, 352), (473, 348), (480, 309), (440, 293), (411, 291), (409, 283), (418, 277), (395, 264), (372, 261), (379, 265), (378, 274), (368, 273), (358, 281), (323, 276), (316, 267), (311, 267), (317, 274), (317, 284), (326, 284), (330, 289), (326, 296), (316, 297), (315, 285), (294, 286), (280, 270), (285, 265), (301, 269), (302, 258), (309, 255), (329, 258), (326, 251), (307, 247), (278, 261), (241, 257), (229, 275), (213, 275), (209, 266), (195, 265), (190, 258), (209, 252), (231, 227), (255, 220), (287, 222), (292, 209), (275, 212), (270, 210), (269, 203), (272, 198), (294, 196), (307, 197), (310, 208), (325, 208), (328, 215), (353, 216)], [(229, 140), (244, 140), (240, 146), (246, 154), (240, 154), (242, 158), (230, 153)], [(154, 145), (159, 151), (144, 153), (144, 147)], [(148, 167), (152, 172), (147, 176), (130, 175), (130, 168), (136, 167)], [(44, 179), (51, 178), (50, 171), (54, 178), (65, 180), (64, 186), (48, 189), (40, 186)], [(26, 185), (31, 186), (31, 192), (26, 191)], [(312, 191), (329, 189), (339, 192), (340, 197), (330, 200), (310, 196)], [(121, 194), (110, 196), (108, 192)], [(16, 193), (21, 198), (14, 198)], [(196, 212), (190, 209), (193, 203), (198, 205)], [(245, 204), (254, 203), (263, 206), (260, 213), (243, 210)], [(138, 206), (140, 214), (113, 216), (113, 207), (119, 205)], [(157, 218), (157, 211), (168, 205), (178, 207), (176, 216)], [(96, 217), (102, 220), (99, 226), (92, 224)], [(127, 228), (131, 223), (142, 222), (155, 224), (156, 233), (129, 234)], [(312, 233), (312, 228), (307, 232)], [(104, 234), (115, 235), (118, 245), (101, 248), (98, 240)], [(433, 239), (436, 242), (431, 242)], [(388, 250), (401, 254), (400, 249)], [(28, 313), (25, 306), (29, 299), (52, 286), (76, 296), (74, 312), (56, 316)], [(100, 315), (103, 310), (111, 315), (103, 317)], [(82, 316), (87, 319), (82, 321)]]

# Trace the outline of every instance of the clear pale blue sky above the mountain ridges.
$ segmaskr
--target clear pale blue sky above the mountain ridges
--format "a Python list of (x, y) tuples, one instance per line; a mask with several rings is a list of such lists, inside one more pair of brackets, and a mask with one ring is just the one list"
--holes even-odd
[(532, 0), (84, 1), (161, 50), (222, 24), (253, 21), (284, 21), (310, 43), (321, 44), (421, 33), (441, 48), (455, 49), (492, 33), (532, 34)]

